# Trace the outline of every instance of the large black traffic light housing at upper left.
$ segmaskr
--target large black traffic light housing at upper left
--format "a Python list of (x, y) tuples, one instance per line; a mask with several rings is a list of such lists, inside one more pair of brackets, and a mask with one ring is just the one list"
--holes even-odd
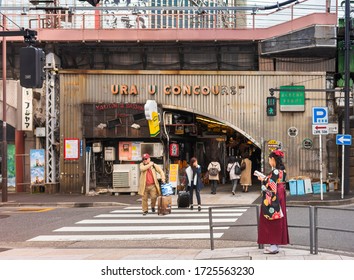
[(45, 54), (33, 46), (20, 49), (20, 84), (25, 88), (41, 88), (44, 80)]

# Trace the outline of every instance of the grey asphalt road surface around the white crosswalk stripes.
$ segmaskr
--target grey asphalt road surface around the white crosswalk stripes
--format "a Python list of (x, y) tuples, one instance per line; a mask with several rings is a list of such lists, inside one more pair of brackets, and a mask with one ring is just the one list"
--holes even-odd
[[(125, 208), (122, 207), (88, 207), (88, 208), (44, 208), (44, 207), (0, 207), (0, 248), (15, 248), (15, 247), (87, 247), (87, 248), (141, 248), (141, 247), (160, 247), (160, 248), (210, 248), (210, 240), (207, 238), (195, 238), (190, 239), (183, 237), (176, 237), (176, 239), (166, 239), (164, 237), (160, 239), (153, 240), (109, 240), (105, 236), (108, 235), (120, 235), (124, 234), (121, 232), (113, 232), (98, 230), (94, 232), (94, 240), (64, 240), (64, 241), (29, 241), (38, 236), (66, 236), (73, 235), (69, 232), (57, 232), (60, 228), (65, 227), (77, 227), (81, 226), (77, 224), (80, 221), (92, 221), (101, 220), (102, 218), (97, 218), (99, 215), (112, 215), (112, 211), (121, 211)], [(353, 206), (345, 207), (346, 209), (353, 209)], [(135, 211), (135, 210), (134, 210)], [(140, 211), (140, 210), (139, 210)], [(189, 210), (190, 211), (190, 210)], [(206, 210), (205, 210), (206, 211)], [(153, 234), (165, 234), (171, 235), (175, 234), (176, 231), (168, 232), (163, 229), (158, 229), (156, 231), (151, 231), (148, 227), (158, 227), (161, 226), (161, 221), (170, 221), (172, 219), (177, 219), (178, 216), (187, 215), (184, 219), (194, 219), (201, 218), (198, 216), (197, 211), (193, 211), (192, 214), (189, 212), (177, 214), (176, 216), (171, 215), (159, 218), (158, 222), (154, 221), (152, 223), (140, 224), (143, 219), (152, 218), (152, 216), (142, 217), (140, 214), (135, 214), (132, 210), (123, 210), (118, 215), (125, 215), (125, 212), (129, 212), (132, 216), (127, 216), (122, 219), (126, 219), (127, 223), (122, 225), (112, 225), (110, 222), (107, 224), (94, 225), (97, 227), (107, 228), (111, 226), (136, 226), (138, 228), (146, 229), (142, 231), (142, 234), (153, 235)], [(117, 214), (114, 214), (117, 215)], [(155, 214), (156, 215), (156, 214)], [(206, 215), (204, 213), (203, 215)], [(231, 214), (230, 214), (231, 215)], [(220, 218), (230, 218), (230, 215), (225, 215), (220, 213)], [(237, 214), (238, 215), (238, 214)], [(190, 216), (190, 217), (188, 217)], [(318, 225), (327, 228), (339, 228), (346, 230), (354, 230), (353, 212), (346, 210), (328, 210), (319, 209), (318, 210)], [(231, 215), (231, 218), (233, 216)], [(255, 222), (255, 211), (253, 208), (245, 210), (241, 215), (237, 216), (236, 225), (240, 227), (231, 227), (229, 229), (222, 229), (216, 232), (222, 233), (222, 236), (215, 241), (215, 246), (217, 248), (230, 247), (230, 246), (243, 246), (252, 245), (254, 246), (257, 239), (257, 230), (255, 226), (243, 226), (252, 224)], [(109, 221), (111, 218), (103, 218)], [(310, 236), (309, 230), (304, 228), (297, 228), (296, 226), (309, 225), (309, 214), (307, 207), (289, 207), (288, 208), (288, 220), (289, 220), (289, 234), (290, 241), (292, 245), (309, 246)], [(201, 224), (207, 225), (205, 221)], [(186, 226), (186, 222), (168, 224), (168, 226)], [(193, 225), (193, 222), (192, 222)], [(198, 225), (197, 222), (194, 225)], [(241, 226), (242, 225), (242, 226)], [(84, 227), (90, 227), (91, 225), (83, 225)], [(110, 229), (109, 229), (110, 230)], [(139, 229), (140, 230), (140, 229)], [(177, 231), (181, 232), (181, 231)], [(208, 230), (197, 230), (197, 229), (187, 229), (186, 234), (197, 234), (202, 232), (208, 232)], [(75, 233), (76, 234), (76, 233)], [(81, 235), (93, 235), (92, 232), (81, 232)], [(136, 232), (125, 232), (125, 235), (135, 235)], [(102, 236), (102, 239), (100, 239)], [(338, 232), (329, 230), (319, 230), (319, 247), (327, 248), (340, 251), (354, 252), (354, 234), (348, 232)], [(191, 241), (193, 240), (193, 241)]]

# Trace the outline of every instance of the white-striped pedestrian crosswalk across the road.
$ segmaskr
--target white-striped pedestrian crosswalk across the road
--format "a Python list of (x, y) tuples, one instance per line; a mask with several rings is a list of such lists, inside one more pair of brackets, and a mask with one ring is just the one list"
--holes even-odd
[[(213, 223), (234, 223), (247, 208), (213, 209)], [(228, 226), (214, 229), (214, 238), (221, 238)], [(132, 206), (81, 220), (73, 226), (61, 227), (50, 235), (40, 235), (28, 241), (107, 241), (107, 240), (181, 240), (208, 239), (208, 207), (202, 211), (172, 208), (172, 213), (142, 216), (141, 207)]]

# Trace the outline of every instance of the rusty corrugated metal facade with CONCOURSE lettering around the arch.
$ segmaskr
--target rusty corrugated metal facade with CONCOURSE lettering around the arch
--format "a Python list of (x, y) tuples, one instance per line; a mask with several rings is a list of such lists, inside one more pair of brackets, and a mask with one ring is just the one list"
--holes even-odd
[[(126, 85), (128, 92), (113, 94), (112, 86)], [(145, 103), (154, 99), (164, 108), (195, 112), (225, 122), (263, 147), (269, 140), (282, 143), (289, 176), (318, 177), (318, 136), (312, 135), (312, 107), (326, 106), (325, 92), (306, 93), (305, 112), (279, 112), (266, 116), (266, 97), (270, 88), (303, 85), (306, 89), (325, 89), (324, 72), (217, 72), (217, 71), (60, 71), (61, 147), (65, 138), (82, 140), (79, 160), (60, 159), (62, 192), (81, 192), (85, 178), (85, 139), (82, 104)], [(191, 94), (179, 89), (191, 87)], [(170, 94), (166, 94), (166, 91)], [(195, 93), (193, 93), (193, 90)], [(154, 94), (151, 94), (155, 91)], [(279, 92), (275, 92), (279, 97)], [(289, 128), (297, 135), (290, 136)], [(117, 135), (119, 138), (119, 135)], [(304, 139), (313, 141), (313, 149), (303, 149)], [(322, 137), (323, 141), (325, 137)], [(323, 145), (326, 161), (326, 145)], [(264, 149), (263, 149), (264, 150)], [(63, 151), (63, 149), (61, 150)], [(61, 152), (63, 155), (63, 152)]]

